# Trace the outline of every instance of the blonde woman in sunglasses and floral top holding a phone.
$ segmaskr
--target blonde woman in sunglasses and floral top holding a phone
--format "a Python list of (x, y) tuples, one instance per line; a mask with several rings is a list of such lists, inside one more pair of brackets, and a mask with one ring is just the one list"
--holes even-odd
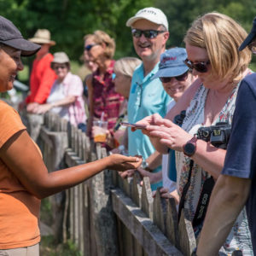
[[(195, 236), (203, 224), (203, 217), (198, 214), (201, 191), (205, 191), (205, 183), (209, 188), (218, 178), (226, 154), (225, 149), (214, 147), (196, 134), (201, 126), (220, 121), (231, 124), (240, 81), (250, 73), (247, 69), (250, 50), (238, 51), (246, 37), (247, 32), (229, 16), (209, 13), (195, 20), (184, 38), (188, 53), (185, 63), (198, 75), (199, 85), (189, 87), (166, 119), (155, 114), (139, 122), (148, 125), (146, 133), (157, 150), (162, 153), (168, 148), (176, 150), (180, 210), (183, 207), (188, 210)], [(183, 109), (186, 117), (181, 128), (171, 120)], [(225, 253), (237, 248), (243, 255), (253, 255), (244, 209), (224, 243)]]

